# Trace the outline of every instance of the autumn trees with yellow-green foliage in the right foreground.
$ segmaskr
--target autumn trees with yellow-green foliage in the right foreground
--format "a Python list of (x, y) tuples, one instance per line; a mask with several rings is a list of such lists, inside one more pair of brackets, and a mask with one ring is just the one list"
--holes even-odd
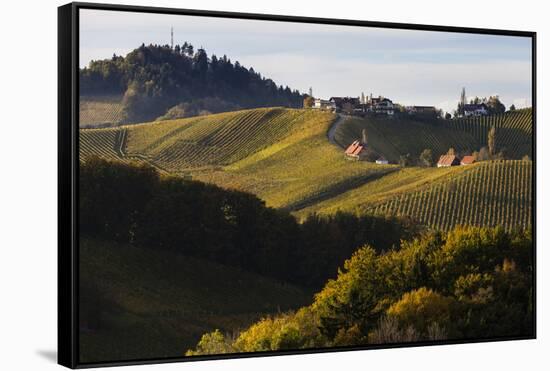
[(312, 305), (187, 355), (533, 335), (530, 231), (457, 227), (399, 249), (360, 248)]

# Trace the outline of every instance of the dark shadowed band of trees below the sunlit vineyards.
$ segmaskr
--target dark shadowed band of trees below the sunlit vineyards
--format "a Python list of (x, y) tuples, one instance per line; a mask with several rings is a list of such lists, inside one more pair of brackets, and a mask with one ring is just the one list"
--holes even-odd
[(320, 288), (358, 246), (389, 250), (410, 221), (339, 213), (303, 223), (256, 196), (159, 176), (148, 165), (89, 158), (80, 166), (82, 236), (175, 251)]

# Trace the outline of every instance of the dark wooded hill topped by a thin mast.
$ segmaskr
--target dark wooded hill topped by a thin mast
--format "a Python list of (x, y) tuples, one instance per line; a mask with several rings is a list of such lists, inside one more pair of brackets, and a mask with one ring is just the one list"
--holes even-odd
[(241, 108), (300, 107), (303, 96), (227, 56), (184, 43), (144, 45), (80, 70), (81, 95), (123, 95), (127, 122)]

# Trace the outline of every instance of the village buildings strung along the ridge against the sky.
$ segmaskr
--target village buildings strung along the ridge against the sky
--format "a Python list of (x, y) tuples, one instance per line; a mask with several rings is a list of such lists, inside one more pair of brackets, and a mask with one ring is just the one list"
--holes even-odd
[[(329, 100), (317, 98), (313, 102), (314, 109), (328, 110), (332, 112), (345, 112), (347, 114), (365, 115), (378, 114), (394, 116), (396, 112), (404, 112), (409, 115), (437, 115), (438, 110), (434, 106), (405, 106), (395, 104), (391, 99), (378, 96), (373, 97), (331, 97)], [(487, 105), (466, 104), (464, 116), (486, 116), (489, 114)]]

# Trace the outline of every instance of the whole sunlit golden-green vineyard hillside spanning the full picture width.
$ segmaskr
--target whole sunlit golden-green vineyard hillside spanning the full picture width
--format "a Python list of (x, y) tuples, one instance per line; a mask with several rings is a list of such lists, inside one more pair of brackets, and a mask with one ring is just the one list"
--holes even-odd
[[(485, 145), (484, 130), (494, 124), (497, 146), (516, 148), (515, 157), (521, 158), (528, 147), (525, 138), (507, 135), (510, 131), (505, 129), (517, 128), (530, 138), (526, 117), (530, 117), (530, 110), (445, 123), (350, 118), (337, 127), (335, 141), (345, 146), (367, 128), (371, 148), (390, 161), (397, 161), (405, 153), (418, 156), (425, 148), (431, 148), (436, 156), (449, 147), (458, 151), (479, 149)], [(197, 180), (253, 193), (268, 206), (293, 211), (300, 218), (311, 212), (330, 214), (341, 210), (408, 215), (444, 229), (457, 223), (504, 223), (508, 228), (529, 225), (531, 196), (518, 198), (516, 194), (527, 192), (525, 187), (530, 187), (531, 173), (520, 170), (530, 169), (530, 163), (438, 169), (350, 161), (341, 147), (327, 140), (327, 131), (335, 119), (328, 112), (263, 108), (114, 129), (81, 130), (81, 159), (96, 154), (146, 161), (170, 173), (191, 174)], [(482, 123), (477, 131), (470, 123), (475, 120)], [(446, 193), (442, 190), (451, 179), (470, 172), (477, 174), (485, 166), (496, 169), (483, 175), (488, 177), (484, 184), (495, 183), (497, 187), (502, 183), (496, 191), (492, 188), (465, 191), (466, 185), (460, 183), (458, 187), (462, 188), (458, 192), (469, 192), (468, 197), (463, 200), (453, 193), (449, 196), (452, 202), (442, 198), (436, 205), (441, 211), (432, 212), (435, 204), (424, 201), (418, 201), (419, 206), (409, 205), (428, 195), (444, 197)], [(460, 179), (475, 176), (464, 175)], [(434, 188), (428, 191), (426, 187)], [(423, 193), (417, 194), (421, 190)], [(484, 192), (490, 193), (484, 195)], [(494, 197), (494, 192), (499, 192), (498, 197)], [(480, 211), (483, 216), (443, 216), (449, 210), (464, 207), (463, 202), (484, 205), (477, 203), (483, 197), (488, 197), (487, 205), (491, 205)], [(518, 205), (510, 211), (510, 217), (499, 211), (502, 206), (508, 207), (508, 202)]]

